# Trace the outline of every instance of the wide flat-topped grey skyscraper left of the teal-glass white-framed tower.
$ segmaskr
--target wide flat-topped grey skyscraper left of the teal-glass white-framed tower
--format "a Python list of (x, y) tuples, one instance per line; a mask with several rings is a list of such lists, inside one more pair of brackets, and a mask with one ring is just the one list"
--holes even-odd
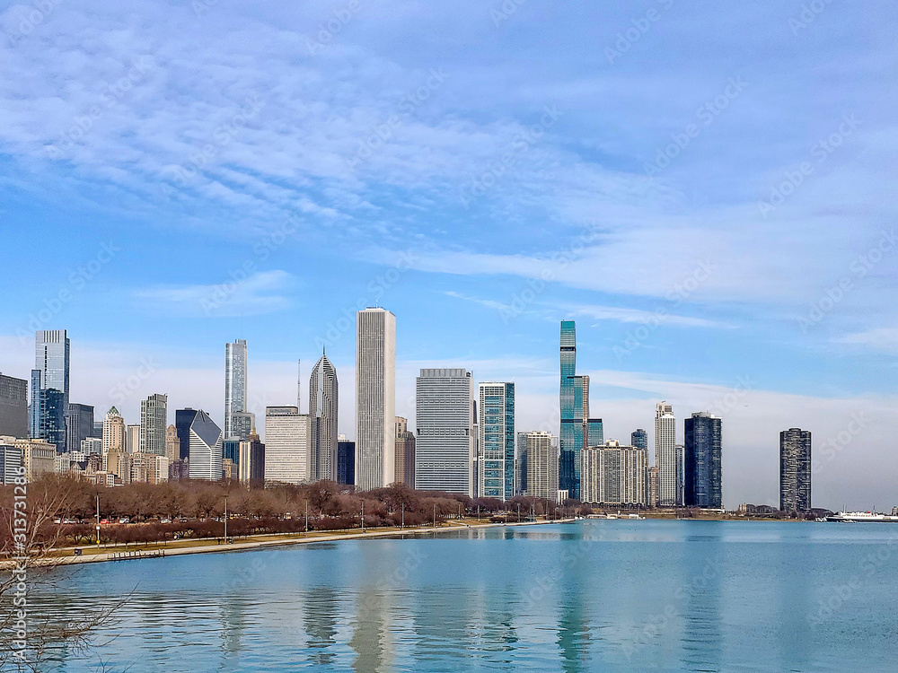
[(422, 369), (415, 388), (415, 488), (474, 494), (474, 382), (464, 369)]

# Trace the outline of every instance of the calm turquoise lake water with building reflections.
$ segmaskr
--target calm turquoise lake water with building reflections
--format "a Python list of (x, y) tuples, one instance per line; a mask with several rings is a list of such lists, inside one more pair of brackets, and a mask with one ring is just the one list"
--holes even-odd
[[(66, 570), (57, 669), (898, 670), (898, 526), (581, 521)], [(68, 575), (71, 576), (68, 576)]]

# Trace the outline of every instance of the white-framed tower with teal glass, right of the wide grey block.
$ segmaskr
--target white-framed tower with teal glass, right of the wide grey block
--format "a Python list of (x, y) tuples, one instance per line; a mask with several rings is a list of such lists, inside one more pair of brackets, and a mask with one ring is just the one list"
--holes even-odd
[(515, 384), (480, 383), (478, 489), (484, 498), (515, 495)]

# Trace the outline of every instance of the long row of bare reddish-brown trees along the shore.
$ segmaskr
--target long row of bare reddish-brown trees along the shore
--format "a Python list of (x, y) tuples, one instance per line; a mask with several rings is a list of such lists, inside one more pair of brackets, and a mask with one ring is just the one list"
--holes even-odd
[[(10, 520), (13, 486), (5, 486), (4, 518)], [(41, 547), (96, 542), (99, 503), (101, 544), (149, 544), (184, 538), (230, 538), (313, 530), (359, 529), (363, 503), (365, 529), (440, 525), (449, 519), (527, 520), (532, 515), (560, 518), (591, 512), (577, 501), (557, 506), (523, 495), (503, 503), (461, 494), (415, 491), (395, 484), (365, 493), (321, 481), (310, 485), (274, 484), (250, 488), (235, 482), (180, 481), (107, 488), (67, 476), (46, 476), (28, 485), (29, 509), (43, 510), (31, 540)], [(98, 500), (99, 498), (99, 500)], [(52, 511), (48, 510), (51, 505)], [(308, 520), (306, 520), (306, 512)], [(59, 523), (57, 523), (57, 520)], [(119, 523), (128, 520), (128, 523)], [(10, 521), (11, 522), (11, 521)], [(0, 548), (10, 548), (12, 527), (0, 529)]]

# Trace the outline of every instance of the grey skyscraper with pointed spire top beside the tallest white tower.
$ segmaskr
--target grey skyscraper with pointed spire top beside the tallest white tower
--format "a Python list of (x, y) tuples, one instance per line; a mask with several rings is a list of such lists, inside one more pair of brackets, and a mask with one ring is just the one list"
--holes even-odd
[(337, 370), (322, 354), (309, 380), (309, 480), (337, 479)]

